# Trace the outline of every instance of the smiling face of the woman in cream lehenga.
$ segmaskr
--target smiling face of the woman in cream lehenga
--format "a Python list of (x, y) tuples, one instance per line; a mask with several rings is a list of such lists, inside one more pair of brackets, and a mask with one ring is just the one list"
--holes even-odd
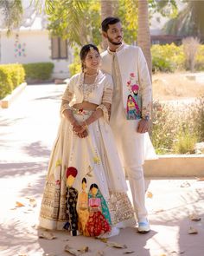
[(84, 64), (86, 65), (86, 70), (99, 69), (100, 56), (97, 50), (91, 49), (87, 53)]

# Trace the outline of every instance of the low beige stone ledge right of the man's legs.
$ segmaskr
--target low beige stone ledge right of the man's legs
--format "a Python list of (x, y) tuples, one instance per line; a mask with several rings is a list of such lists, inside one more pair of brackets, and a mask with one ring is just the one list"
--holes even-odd
[(204, 154), (164, 154), (145, 161), (145, 177), (203, 177)]

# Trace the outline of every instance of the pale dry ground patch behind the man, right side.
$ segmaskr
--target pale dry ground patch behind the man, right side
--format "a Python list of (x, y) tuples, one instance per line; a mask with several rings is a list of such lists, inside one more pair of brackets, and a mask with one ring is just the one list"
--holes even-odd
[(152, 75), (153, 99), (169, 101), (204, 96), (204, 81), (190, 80), (188, 75), (191, 74), (157, 73)]

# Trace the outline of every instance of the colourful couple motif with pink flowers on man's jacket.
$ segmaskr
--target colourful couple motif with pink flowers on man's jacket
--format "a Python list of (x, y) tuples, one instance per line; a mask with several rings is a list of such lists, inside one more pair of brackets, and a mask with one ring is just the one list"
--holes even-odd
[(127, 82), (127, 88), (131, 93), (127, 98), (127, 119), (139, 119), (141, 118), (141, 99), (138, 95), (139, 85), (134, 73), (130, 74), (130, 80)]

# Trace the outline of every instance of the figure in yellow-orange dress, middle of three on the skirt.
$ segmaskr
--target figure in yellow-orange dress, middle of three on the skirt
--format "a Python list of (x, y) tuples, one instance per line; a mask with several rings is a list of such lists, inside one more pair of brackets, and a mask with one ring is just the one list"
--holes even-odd
[(85, 236), (89, 234), (86, 231), (86, 223), (89, 217), (88, 211), (88, 194), (86, 193), (86, 178), (82, 179), (81, 182), (82, 191), (79, 194), (77, 203), (77, 212), (79, 217), (79, 231)]

